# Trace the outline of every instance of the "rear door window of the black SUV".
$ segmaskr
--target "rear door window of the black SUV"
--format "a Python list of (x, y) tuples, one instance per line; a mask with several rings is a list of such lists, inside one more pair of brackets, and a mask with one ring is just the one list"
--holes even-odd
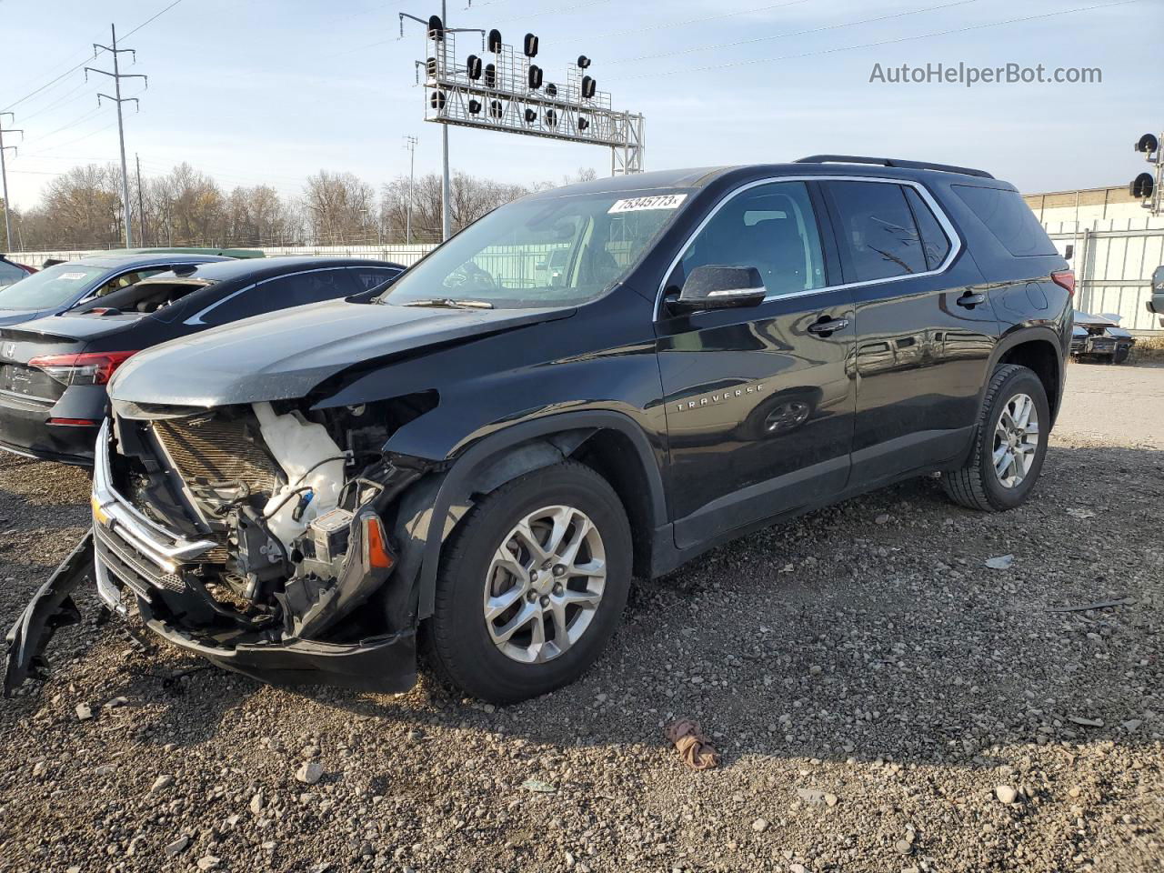
[(824, 183), (837, 213), (837, 242), (847, 282), (925, 272), (925, 253), (901, 185)]

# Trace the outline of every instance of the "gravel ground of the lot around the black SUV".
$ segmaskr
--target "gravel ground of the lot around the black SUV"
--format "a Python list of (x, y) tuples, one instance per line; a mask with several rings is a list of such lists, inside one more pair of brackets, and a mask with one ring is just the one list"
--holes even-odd
[[(1162, 870), (1164, 369), (1072, 365), (1069, 395), (1023, 509), (924, 480), (752, 535), (639, 584), (599, 663), (521, 705), (68, 629), (0, 701), (0, 870)], [(86, 501), (0, 462), (5, 626)], [(680, 765), (677, 716), (718, 769)]]

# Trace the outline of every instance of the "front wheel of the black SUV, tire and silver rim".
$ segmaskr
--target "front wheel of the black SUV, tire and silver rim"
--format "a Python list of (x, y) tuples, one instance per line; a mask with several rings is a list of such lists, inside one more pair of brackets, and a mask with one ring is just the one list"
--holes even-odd
[(490, 492), (441, 559), (430, 663), (491, 703), (568, 684), (598, 658), (626, 605), (631, 528), (610, 484), (565, 462)]

